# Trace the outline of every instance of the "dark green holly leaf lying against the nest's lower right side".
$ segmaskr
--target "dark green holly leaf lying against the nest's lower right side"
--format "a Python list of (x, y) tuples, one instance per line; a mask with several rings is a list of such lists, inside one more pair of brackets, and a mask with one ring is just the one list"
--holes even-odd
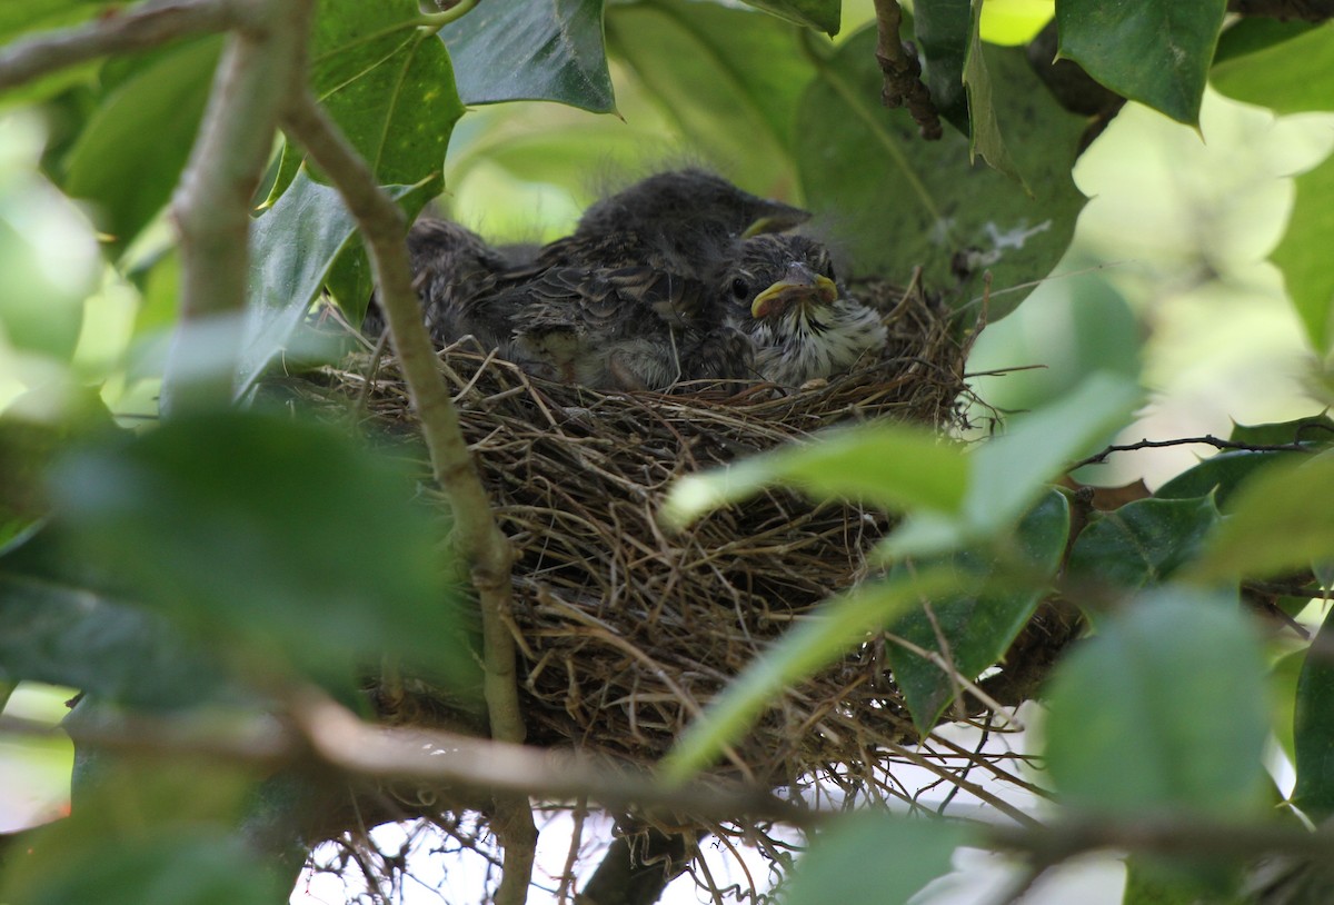
[[(1069, 533), (1066, 498), (1055, 490), (1047, 491), (1019, 522), (1014, 549), (1005, 555), (995, 549), (972, 549), (948, 557), (939, 565), (958, 573), (958, 590), (934, 597), (931, 617), (924, 610), (912, 610), (894, 622), (890, 633), (946, 658), (966, 681), (974, 681), (1005, 655), (1029, 623), (1061, 562)], [(928, 563), (912, 567), (924, 565)], [(904, 569), (900, 565), (895, 571)], [(892, 639), (886, 653), (912, 722), (928, 731), (954, 698), (956, 683), (935, 662)]]

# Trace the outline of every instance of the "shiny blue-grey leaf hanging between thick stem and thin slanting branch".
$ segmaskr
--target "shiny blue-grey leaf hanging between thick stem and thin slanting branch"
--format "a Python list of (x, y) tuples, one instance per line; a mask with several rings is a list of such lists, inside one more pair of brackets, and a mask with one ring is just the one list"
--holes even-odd
[[(388, 186), (386, 191), (395, 200), (408, 199), (415, 215), (424, 204), (423, 188)], [(251, 224), (237, 395), (247, 394), (269, 363), (288, 351), (335, 259), (352, 247), (355, 231), (356, 223), (338, 190), (321, 186), (304, 171), (277, 203)]]

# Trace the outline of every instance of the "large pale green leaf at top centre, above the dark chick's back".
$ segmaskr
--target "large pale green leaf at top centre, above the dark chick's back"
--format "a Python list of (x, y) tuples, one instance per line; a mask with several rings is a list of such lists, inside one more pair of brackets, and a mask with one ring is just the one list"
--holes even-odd
[(608, 9), (607, 45), (694, 144), (724, 168), (743, 164), (747, 188), (792, 184), (795, 109), (815, 73), (799, 29), (744, 8), (664, 0)]

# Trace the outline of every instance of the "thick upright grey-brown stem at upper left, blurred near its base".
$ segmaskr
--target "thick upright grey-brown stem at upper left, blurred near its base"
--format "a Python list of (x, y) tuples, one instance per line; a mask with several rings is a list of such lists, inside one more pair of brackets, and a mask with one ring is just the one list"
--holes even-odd
[[(291, 85), (305, 72), (311, 0), (232, 4), (236, 28), (217, 64), (203, 125), (171, 204), (180, 238), (180, 324), (163, 375), (163, 414), (231, 402), (236, 320), (245, 307), (249, 203), (273, 151)], [(219, 356), (219, 346), (231, 355)]]

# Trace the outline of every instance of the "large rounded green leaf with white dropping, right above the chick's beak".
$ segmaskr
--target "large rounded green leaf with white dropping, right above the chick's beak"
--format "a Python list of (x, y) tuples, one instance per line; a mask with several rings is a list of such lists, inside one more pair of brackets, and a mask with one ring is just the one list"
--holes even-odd
[[(802, 99), (796, 162), (807, 207), (823, 214), (862, 274), (908, 283), (914, 267), (955, 307), (976, 311), (983, 271), (994, 276), (988, 316), (1014, 310), (1065, 254), (1085, 199), (1070, 178), (1083, 119), (1051, 99), (1021, 48), (983, 47), (996, 120), (1029, 196), (972, 164), (968, 140), (923, 141), (904, 109), (880, 107), (875, 29), (820, 60)], [(962, 274), (962, 276), (960, 276)]]

